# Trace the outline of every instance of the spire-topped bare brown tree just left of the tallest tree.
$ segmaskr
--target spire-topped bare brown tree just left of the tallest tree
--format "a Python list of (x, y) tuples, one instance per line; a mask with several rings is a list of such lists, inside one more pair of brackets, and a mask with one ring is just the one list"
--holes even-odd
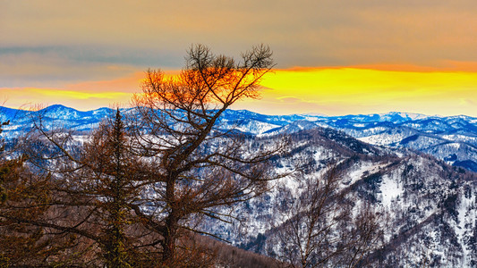
[(148, 163), (132, 155), (119, 110), (84, 143), (71, 131), (47, 130), (41, 115), (35, 123), (38, 136), (30, 133), (26, 153), (38, 174), (48, 174), (48, 198), (38, 204), (47, 211), (12, 220), (72, 235), (75, 254), (88, 255), (81, 265), (131, 267), (157, 258), (149, 241), (155, 233), (140, 228), (132, 209), (149, 181)]

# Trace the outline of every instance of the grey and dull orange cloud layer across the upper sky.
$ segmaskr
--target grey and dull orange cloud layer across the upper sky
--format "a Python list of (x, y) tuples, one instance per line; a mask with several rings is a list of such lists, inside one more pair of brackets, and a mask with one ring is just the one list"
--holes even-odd
[(108, 64), (180, 68), (193, 43), (233, 55), (265, 43), (278, 68), (477, 62), (475, 10), (473, 0), (0, 1), (0, 62), (18, 59), (0, 68), (28, 72), (40, 58), (64, 79)]

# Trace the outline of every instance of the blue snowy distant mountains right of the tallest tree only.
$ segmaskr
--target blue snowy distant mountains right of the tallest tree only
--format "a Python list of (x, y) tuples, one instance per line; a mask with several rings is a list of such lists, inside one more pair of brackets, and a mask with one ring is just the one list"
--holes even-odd
[[(224, 121), (245, 120), (243, 113), (239, 112), (230, 111)], [(249, 112), (246, 120), (251, 126), (258, 122), (267, 124), (267, 128), (243, 130), (256, 135), (291, 133), (315, 127), (331, 128), (372, 145), (410, 148), (477, 172), (477, 119), (470, 116), (439, 117), (414, 113), (267, 116)], [(272, 129), (273, 125), (277, 128)]]

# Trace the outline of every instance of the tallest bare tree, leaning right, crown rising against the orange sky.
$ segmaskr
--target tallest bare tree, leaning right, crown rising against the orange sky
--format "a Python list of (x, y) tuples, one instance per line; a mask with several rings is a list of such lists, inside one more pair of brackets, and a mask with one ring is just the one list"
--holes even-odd
[[(268, 159), (283, 145), (251, 151), (246, 135), (221, 130), (220, 116), (236, 101), (258, 97), (260, 80), (273, 66), (268, 46), (255, 46), (237, 62), (192, 46), (185, 68), (175, 78), (148, 71), (137, 107), (138, 154), (154, 166), (149, 227), (163, 238), (163, 260), (174, 265), (176, 241), (183, 230), (207, 233), (193, 219), (230, 222), (230, 207), (267, 189)], [(137, 210), (141, 214), (141, 210)]]

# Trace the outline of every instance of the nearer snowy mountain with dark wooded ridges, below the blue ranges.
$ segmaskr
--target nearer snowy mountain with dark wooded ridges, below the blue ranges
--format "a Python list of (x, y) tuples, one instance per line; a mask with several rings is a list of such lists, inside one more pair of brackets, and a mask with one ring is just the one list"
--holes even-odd
[[(301, 163), (307, 167), (304, 174), (274, 182), (270, 192), (238, 209), (237, 214), (249, 218), (248, 236), (237, 231), (240, 226), (230, 230), (217, 222), (207, 230), (260, 254), (279, 255), (277, 233), (282, 228), (280, 216), (290, 209), (286, 204), (302, 195), (307, 180), (322, 178), (335, 163), (340, 188), (355, 207), (371, 203), (388, 214), (382, 226), (383, 247), (369, 256), (367, 265), (477, 265), (476, 173), (409, 150), (396, 154), (393, 149), (371, 146), (341, 131), (315, 128), (290, 135), (293, 153), (277, 159), (275, 166), (291, 171)], [(285, 206), (283, 200), (288, 200)]]

